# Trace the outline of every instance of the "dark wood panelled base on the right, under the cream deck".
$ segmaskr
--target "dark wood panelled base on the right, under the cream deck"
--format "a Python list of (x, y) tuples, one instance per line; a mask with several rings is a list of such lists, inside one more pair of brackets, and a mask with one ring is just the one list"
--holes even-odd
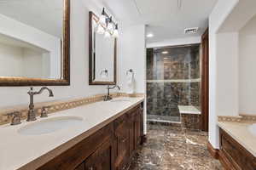
[(256, 170), (256, 157), (220, 128), (220, 161), (230, 170)]

